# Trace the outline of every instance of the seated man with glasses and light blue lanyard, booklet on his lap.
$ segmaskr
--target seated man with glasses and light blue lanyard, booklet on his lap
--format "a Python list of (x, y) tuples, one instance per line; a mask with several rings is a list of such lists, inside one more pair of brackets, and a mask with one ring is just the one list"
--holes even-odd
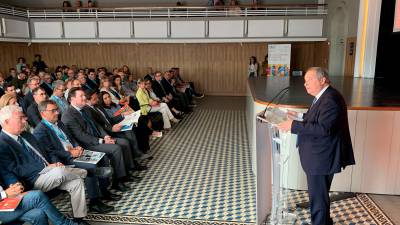
[(100, 198), (108, 195), (112, 199), (113, 194), (107, 190), (107, 178), (111, 177), (110, 167), (106, 165), (107, 159), (97, 164), (74, 162), (74, 158), (82, 155), (83, 148), (78, 145), (75, 139), (61, 121), (58, 121), (59, 109), (57, 104), (51, 100), (39, 104), (42, 121), (37, 125), (33, 135), (46, 146), (48, 154), (55, 154), (64, 165), (75, 165), (78, 168), (86, 169), (88, 176), (85, 179), (88, 197), (90, 199), (89, 209), (98, 213), (109, 213), (114, 207), (104, 204)]

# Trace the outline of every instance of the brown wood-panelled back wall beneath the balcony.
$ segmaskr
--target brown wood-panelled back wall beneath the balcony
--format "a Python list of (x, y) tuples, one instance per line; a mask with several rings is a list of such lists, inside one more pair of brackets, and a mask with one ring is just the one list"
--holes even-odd
[[(295, 67), (314, 66), (315, 44), (293, 43)], [(260, 67), (267, 53), (267, 43), (210, 44), (134, 44), (134, 43), (0, 43), (0, 71), (15, 67), (20, 56), (31, 64), (35, 53), (42, 55), (51, 70), (57, 65), (78, 67), (105, 66), (110, 71), (126, 64), (136, 77), (143, 77), (147, 67), (166, 71), (180, 67), (183, 78), (195, 82), (199, 91), (211, 95), (245, 95), (249, 57), (257, 57)]]

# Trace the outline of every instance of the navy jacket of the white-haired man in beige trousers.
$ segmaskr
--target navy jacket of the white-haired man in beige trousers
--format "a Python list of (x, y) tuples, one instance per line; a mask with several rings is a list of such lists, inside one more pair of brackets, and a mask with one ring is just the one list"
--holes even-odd
[[(29, 142), (49, 163), (58, 162), (50, 159), (43, 145), (40, 145), (35, 137), (22, 132), (21, 136)], [(39, 172), (45, 166), (34, 160), (22, 146), (4, 132), (0, 133), (0, 174), (6, 186), (20, 181), (27, 189), (30, 189), (39, 177)]]

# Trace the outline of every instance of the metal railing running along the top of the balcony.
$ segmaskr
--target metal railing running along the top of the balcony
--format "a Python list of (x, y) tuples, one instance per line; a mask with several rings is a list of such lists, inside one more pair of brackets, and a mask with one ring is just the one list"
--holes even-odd
[(231, 16), (320, 16), (327, 14), (326, 4), (238, 5), (238, 6), (163, 6), (129, 8), (57, 8), (24, 9), (0, 5), (0, 14), (25, 18), (179, 18)]

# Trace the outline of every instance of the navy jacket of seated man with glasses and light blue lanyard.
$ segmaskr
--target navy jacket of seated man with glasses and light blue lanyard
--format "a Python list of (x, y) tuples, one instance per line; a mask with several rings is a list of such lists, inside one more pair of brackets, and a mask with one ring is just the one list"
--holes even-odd
[[(64, 131), (67, 135), (68, 140), (71, 144), (76, 147), (78, 146), (78, 142), (72, 137), (69, 133), (65, 125), (58, 121), (57, 126)], [(61, 160), (61, 162), (65, 165), (73, 164), (73, 158), (71, 154), (65, 151), (63, 144), (58, 139), (57, 134), (50, 129), (46, 124), (41, 121), (33, 131), (33, 136), (44, 146), (46, 146), (46, 151), (49, 156), (56, 157)]]

